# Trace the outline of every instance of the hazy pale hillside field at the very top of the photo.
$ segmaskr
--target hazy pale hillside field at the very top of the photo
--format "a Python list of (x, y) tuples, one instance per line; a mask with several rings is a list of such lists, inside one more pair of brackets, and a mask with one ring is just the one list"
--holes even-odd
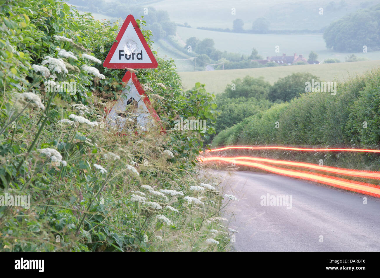
[[(146, 6), (166, 10), (176, 23), (187, 22), (192, 27), (232, 28), (233, 20), (242, 19), (244, 29), (252, 28), (258, 17), (266, 17), (271, 22), (271, 30), (319, 30), (330, 22), (359, 8), (361, 1), (345, 0), (347, 6), (333, 8), (331, 0), (162, 0), (152, 1)], [(236, 14), (231, 14), (235, 8)], [(320, 16), (319, 8), (324, 9)]]

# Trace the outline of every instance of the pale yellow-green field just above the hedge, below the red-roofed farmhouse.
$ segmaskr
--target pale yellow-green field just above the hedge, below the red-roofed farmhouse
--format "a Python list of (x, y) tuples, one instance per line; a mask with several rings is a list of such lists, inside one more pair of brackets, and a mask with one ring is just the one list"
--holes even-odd
[(273, 84), (279, 78), (294, 72), (310, 72), (322, 80), (333, 81), (347, 80), (351, 76), (361, 75), (369, 69), (380, 66), (380, 60), (360, 61), (350, 63), (317, 64), (300, 66), (278, 66), (255, 69), (230, 69), (224, 71), (198, 71), (179, 72), (185, 89), (190, 89), (196, 82), (206, 84), (206, 90), (210, 93), (219, 94), (232, 80), (243, 78), (246, 75), (253, 77), (263, 76), (266, 81)]

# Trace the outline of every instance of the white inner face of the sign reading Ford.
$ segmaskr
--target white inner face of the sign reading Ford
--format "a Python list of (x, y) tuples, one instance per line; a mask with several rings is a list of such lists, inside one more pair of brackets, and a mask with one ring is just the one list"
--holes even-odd
[(119, 44), (112, 55), (110, 63), (152, 63), (148, 53), (142, 46), (140, 39), (135, 32), (131, 22), (124, 32)]

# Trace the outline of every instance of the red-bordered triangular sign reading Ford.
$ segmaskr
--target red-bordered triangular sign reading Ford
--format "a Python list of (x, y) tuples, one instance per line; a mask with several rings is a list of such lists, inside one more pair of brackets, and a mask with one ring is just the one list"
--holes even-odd
[(131, 14), (125, 19), (103, 66), (110, 69), (157, 68), (156, 58)]

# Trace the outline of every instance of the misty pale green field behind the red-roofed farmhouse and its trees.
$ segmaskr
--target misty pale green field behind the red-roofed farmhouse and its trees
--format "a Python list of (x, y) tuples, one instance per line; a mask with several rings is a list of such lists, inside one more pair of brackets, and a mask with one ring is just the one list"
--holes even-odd
[[(255, 47), (259, 55), (277, 56), (302, 54), (307, 59), (311, 50), (317, 52), (318, 61), (328, 58), (336, 58), (344, 61), (344, 58), (351, 53), (339, 53), (326, 49), (326, 44), (322, 35), (274, 35), (274, 34), (242, 34), (226, 33), (217, 31), (199, 30), (194, 28), (177, 27), (178, 35), (186, 41), (190, 37), (198, 39), (214, 39), (215, 48), (228, 52), (240, 52), (249, 55)], [(275, 46), (280, 47), (280, 53), (275, 52)], [(380, 60), (380, 51), (363, 53), (363, 49), (358, 49), (356, 56), (366, 57), (369, 60)]]

